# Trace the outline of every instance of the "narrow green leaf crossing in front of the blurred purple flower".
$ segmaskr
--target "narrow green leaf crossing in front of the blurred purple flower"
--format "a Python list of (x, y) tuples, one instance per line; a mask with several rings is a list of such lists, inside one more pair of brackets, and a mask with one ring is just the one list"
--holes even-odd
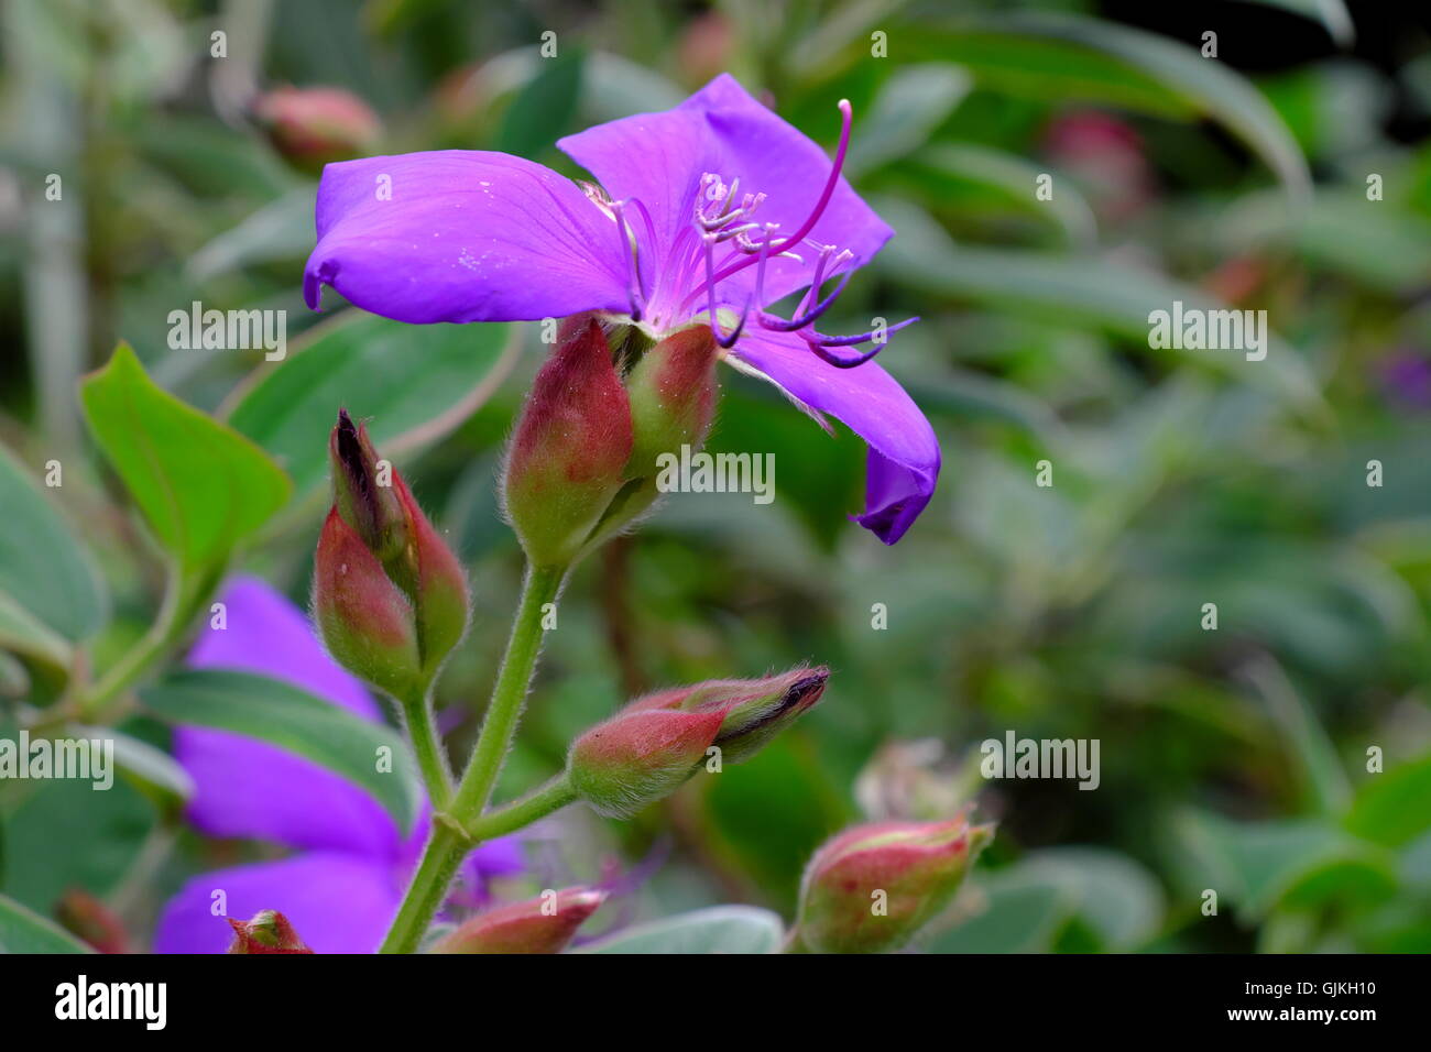
[[(405, 830), (422, 804), (401, 736), (288, 683), (189, 668), (142, 690), (140, 698), (150, 713), (170, 723), (233, 731), (312, 760), (371, 793)], [(379, 770), (382, 757), (392, 761)], [(256, 770), (253, 777), (265, 774)]]

